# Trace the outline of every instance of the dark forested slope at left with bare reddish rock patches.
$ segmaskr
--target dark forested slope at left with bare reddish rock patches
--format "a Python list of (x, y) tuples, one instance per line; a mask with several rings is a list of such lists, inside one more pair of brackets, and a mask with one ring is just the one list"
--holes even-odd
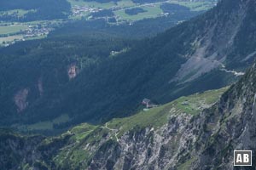
[(97, 36), (54, 37), (2, 48), (1, 124), (19, 122), (20, 119), (38, 122), (39, 117), (27, 119), (24, 111), (28, 105), (34, 105), (36, 111), (32, 112), (39, 113), (41, 121), (54, 118), (58, 114), (41, 112), (38, 105), (52, 108), (66, 90), (67, 83), (72, 82), (80, 71), (93, 69), (108, 60), (112, 51), (129, 48), (131, 44), (103, 34)]

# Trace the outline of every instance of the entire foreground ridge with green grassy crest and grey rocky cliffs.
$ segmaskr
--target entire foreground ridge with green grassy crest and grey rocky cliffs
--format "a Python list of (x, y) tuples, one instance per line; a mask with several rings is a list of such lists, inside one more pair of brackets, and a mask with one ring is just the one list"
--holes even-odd
[(183, 97), (102, 126), (83, 123), (54, 138), (2, 129), (0, 165), (53, 170), (254, 169), (254, 163), (234, 167), (233, 150), (256, 150), (255, 73), (253, 64), (228, 90)]

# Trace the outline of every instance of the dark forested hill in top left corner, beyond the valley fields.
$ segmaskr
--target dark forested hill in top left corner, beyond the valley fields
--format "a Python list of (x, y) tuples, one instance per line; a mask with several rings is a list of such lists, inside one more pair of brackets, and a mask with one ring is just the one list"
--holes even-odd
[[(19, 12), (9, 14), (15, 10), (23, 10), (25, 14), (22, 16), (19, 15)], [(9, 11), (9, 13), (4, 14), (5, 11)], [(71, 13), (71, 5), (66, 0), (9, 0), (0, 2), (0, 12), (0, 20), (9, 22), (67, 19), (68, 14)]]

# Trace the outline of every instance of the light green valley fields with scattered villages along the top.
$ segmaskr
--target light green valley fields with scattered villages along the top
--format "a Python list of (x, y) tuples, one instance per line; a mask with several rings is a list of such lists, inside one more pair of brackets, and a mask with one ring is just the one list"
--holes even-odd
[[(6, 22), (0, 20), (0, 46), (9, 46), (14, 42), (25, 41), (47, 37), (49, 31), (59, 26), (59, 23), (71, 20), (97, 20), (100, 18), (108, 22), (109, 18), (114, 21), (111, 24), (132, 23), (137, 20), (157, 18), (166, 16), (161, 8), (164, 3), (179, 4), (189, 8), (191, 11), (205, 11), (212, 8), (215, 3), (210, 2), (178, 2), (176, 0), (166, 0), (157, 3), (133, 3), (131, 0), (121, 0), (119, 2), (97, 3), (94, 1), (85, 2), (84, 0), (67, 0), (71, 4), (71, 13), (68, 20), (36, 20), (30, 22)], [(127, 10), (140, 9), (142, 12), (129, 14)], [(24, 16), (36, 10), (14, 9), (0, 11), (1, 15)], [(102, 12), (103, 11), (103, 12)], [(106, 11), (106, 14), (105, 14)], [(98, 14), (101, 13), (101, 14)]]

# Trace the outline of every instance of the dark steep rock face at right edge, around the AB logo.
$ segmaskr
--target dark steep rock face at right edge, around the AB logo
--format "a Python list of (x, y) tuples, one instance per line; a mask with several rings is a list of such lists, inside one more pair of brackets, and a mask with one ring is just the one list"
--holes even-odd
[[(202, 114), (203, 128), (198, 140), (201, 154), (193, 168), (235, 169), (233, 150), (256, 150), (255, 73), (254, 64), (246, 76), (224, 94), (218, 105)], [(255, 158), (254, 155), (253, 162)]]

